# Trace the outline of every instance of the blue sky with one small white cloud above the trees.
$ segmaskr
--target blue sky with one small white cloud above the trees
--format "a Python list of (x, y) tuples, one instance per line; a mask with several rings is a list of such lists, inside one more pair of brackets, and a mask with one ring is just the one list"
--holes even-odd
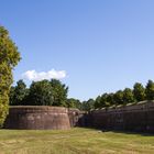
[(154, 0), (0, 0), (22, 61), (14, 82), (57, 78), (80, 100), (154, 80)]

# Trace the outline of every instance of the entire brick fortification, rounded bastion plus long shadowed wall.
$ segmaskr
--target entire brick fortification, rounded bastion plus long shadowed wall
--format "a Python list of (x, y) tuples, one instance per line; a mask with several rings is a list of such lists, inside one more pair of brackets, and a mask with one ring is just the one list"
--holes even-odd
[(82, 112), (63, 107), (10, 107), (6, 129), (68, 130), (74, 127), (99, 130), (154, 132), (154, 101)]

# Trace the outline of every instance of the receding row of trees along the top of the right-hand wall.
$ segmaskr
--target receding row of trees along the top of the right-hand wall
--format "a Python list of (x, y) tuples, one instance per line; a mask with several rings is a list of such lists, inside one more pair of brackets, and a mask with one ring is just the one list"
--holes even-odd
[(125, 88), (114, 94), (103, 94), (95, 100), (94, 109), (107, 108), (110, 106), (125, 106), (127, 103), (138, 103), (144, 100), (154, 100), (154, 82), (147, 81), (144, 87), (141, 82), (135, 82), (133, 89)]

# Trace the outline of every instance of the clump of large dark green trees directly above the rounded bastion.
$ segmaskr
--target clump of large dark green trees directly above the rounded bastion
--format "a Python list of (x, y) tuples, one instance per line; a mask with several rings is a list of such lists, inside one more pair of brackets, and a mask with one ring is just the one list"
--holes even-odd
[(23, 80), (10, 90), (10, 106), (67, 106), (68, 87), (59, 80), (33, 81), (30, 88)]

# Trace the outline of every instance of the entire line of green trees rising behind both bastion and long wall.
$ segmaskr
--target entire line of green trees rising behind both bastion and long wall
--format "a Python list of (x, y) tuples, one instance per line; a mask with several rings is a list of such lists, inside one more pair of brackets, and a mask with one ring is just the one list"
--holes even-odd
[(135, 82), (133, 89), (125, 88), (114, 94), (102, 94), (87, 101), (67, 98), (67, 92), (68, 87), (56, 79), (33, 81), (30, 88), (26, 88), (23, 80), (19, 80), (15, 87), (11, 87), (10, 106), (57, 106), (85, 111), (125, 106), (132, 102), (154, 100), (154, 82), (148, 80), (145, 87), (141, 82)]

